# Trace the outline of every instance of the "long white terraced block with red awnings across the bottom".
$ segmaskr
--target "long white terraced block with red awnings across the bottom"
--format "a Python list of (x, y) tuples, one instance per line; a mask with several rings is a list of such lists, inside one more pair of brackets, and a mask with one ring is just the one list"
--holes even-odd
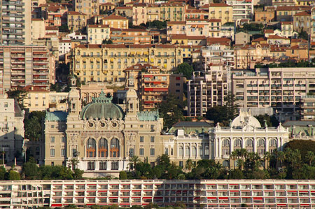
[(187, 208), (314, 208), (315, 180), (2, 181), (1, 208), (75, 205)]

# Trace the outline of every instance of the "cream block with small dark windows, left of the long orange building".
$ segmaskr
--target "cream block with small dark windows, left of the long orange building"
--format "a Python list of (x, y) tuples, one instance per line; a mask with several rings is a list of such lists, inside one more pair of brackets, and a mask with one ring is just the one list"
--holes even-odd
[(88, 24), (87, 41), (91, 44), (102, 44), (104, 40), (109, 40), (111, 28), (108, 24)]

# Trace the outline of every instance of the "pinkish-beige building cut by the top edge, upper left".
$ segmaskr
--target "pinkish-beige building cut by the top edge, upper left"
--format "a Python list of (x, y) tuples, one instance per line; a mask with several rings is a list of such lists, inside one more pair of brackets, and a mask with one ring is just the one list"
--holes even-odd
[(73, 10), (87, 15), (87, 19), (99, 15), (99, 1), (97, 0), (72, 0)]

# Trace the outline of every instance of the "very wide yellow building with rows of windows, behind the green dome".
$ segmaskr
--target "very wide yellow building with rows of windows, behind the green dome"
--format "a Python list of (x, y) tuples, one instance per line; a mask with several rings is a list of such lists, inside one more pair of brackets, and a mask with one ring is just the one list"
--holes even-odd
[(123, 71), (140, 62), (163, 71), (183, 62), (182, 50), (175, 45), (78, 45), (72, 55), (71, 69), (85, 82), (123, 81)]

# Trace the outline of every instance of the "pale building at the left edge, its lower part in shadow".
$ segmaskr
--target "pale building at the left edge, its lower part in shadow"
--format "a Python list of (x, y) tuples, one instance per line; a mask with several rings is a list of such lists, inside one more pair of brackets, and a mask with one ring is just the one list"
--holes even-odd
[(23, 153), (25, 111), (14, 99), (0, 94), (0, 147), (4, 160), (12, 162), (16, 153)]

